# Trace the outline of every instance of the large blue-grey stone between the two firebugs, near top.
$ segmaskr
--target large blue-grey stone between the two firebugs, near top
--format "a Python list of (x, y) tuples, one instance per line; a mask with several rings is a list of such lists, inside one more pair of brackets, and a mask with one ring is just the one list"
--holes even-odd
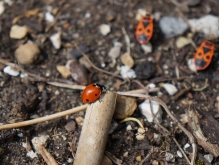
[(182, 18), (172, 16), (162, 17), (159, 26), (166, 38), (180, 35), (188, 29), (188, 24)]

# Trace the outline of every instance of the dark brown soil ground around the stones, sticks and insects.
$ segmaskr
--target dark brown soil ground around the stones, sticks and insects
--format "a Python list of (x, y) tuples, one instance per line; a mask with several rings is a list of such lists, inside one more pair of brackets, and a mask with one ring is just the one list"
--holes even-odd
[[(185, 1), (181, 0), (179, 2)], [(188, 58), (193, 57), (195, 52), (192, 44), (180, 49), (174, 44), (177, 37), (187, 36), (188, 33), (192, 33), (190, 29), (176, 37), (165, 38), (158, 26), (158, 21), (154, 20), (154, 34), (150, 41), (153, 51), (148, 54), (144, 53), (141, 45), (135, 39), (135, 28), (138, 23), (135, 17), (138, 9), (144, 9), (151, 14), (157, 13), (157, 15), (160, 14), (161, 16), (177, 16), (186, 19), (200, 18), (206, 14), (219, 16), (219, 3), (217, 0), (202, 0), (200, 4), (189, 6), (190, 11), (188, 13), (182, 12), (182, 14), (178, 12), (176, 5), (171, 0), (20, 0), (12, 2), (9, 5), (5, 0), (5, 11), (0, 15), (0, 58), (18, 64), (14, 56), (15, 50), (20, 45), (31, 40), (40, 49), (38, 61), (34, 64), (18, 65), (27, 72), (44, 79), (41, 80), (37, 76), (32, 79), (10, 76), (3, 72), (3, 68), (6, 65), (1, 63), (0, 123), (8, 124), (43, 117), (83, 104), (80, 98), (81, 90), (56, 87), (47, 84), (46, 82), (48, 81), (78, 85), (98, 82), (115, 91), (140, 89), (141, 86), (132, 80), (128, 83), (124, 79), (113, 77), (96, 69), (87, 70), (85, 77), (79, 80), (73, 80), (71, 76), (63, 78), (56, 69), (57, 65), (65, 65), (69, 60), (69, 50), (75, 49), (74, 44), (83, 44), (86, 45), (85, 49), (89, 49), (89, 51), (85, 52), (96, 67), (120, 75), (119, 66), (123, 65), (120, 56), (126, 52), (127, 48), (124, 33), (122, 32), (122, 28), (125, 28), (131, 42), (131, 56), (135, 62), (134, 70), (143, 62), (145, 62), (146, 66), (143, 65), (140, 70), (150, 72), (153, 70), (151, 67), (155, 68), (153, 74), (148, 76), (149, 78), (145, 79), (140, 75), (135, 80), (138, 80), (144, 86), (154, 83), (159, 87), (159, 91), (153, 92), (151, 95), (158, 96), (158, 93), (161, 92), (162, 95), (159, 95), (159, 98), (167, 104), (178, 120), (181, 119), (181, 114), (185, 114), (189, 108), (193, 108), (206, 112), (201, 116), (213, 116), (216, 124), (218, 124), (218, 39), (212, 40), (215, 44), (215, 54), (210, 66), (197, 73), (192, 72), (187, 66)], [(34, 9), (39, 10), (32, 15), (25, 14)], [(52, 15), (54, 15), (55, 20), (53, 23), (48, 23), (44, 19), (47, 11), (51, 11)], [(31, 29), (28, 35), (22, 39), (13, 39), (9, 35), (15, 18), (17, 18), (17, 21), (14, 24), (26, 25)], [(100, 33), (99, 26), (101, 24), (110, 25), (111, 31), (108, 35), (104, 36)], [(49, 39), (51, 35), (57, 32), (61, 33), (62, 41), (59, 49), (55, 49)], [(192, 39), (196, 45), (199, 45), (200, 41), (205, 39), (202, 33), (192, 34)], [(113, 61), (109, 57), (108, 52), (116, 41), (120, 42), (122, 47), (120, 56)], [(178, 54), (176, 58), (173, 57), (174, 53)], [(152, 61), (152, 66), (148, 61)], [(177, 78), (176, 66), (179, 68), (180, 78)], [(166, 68), (165, 71), (164, 68)], [(71, 72), (74, 72), (74, 70), (71, 70)], [(174, 84), (178, 88), (178, 92), (181, 91), (182, 94), (173, 99), (173, 96), (171, 97), (161, 87), (161, 83)], [(191, 86), (191, 88), (183, 91), (185, 89), (184, 84)], [(192, 90), (196, 87), (199, 90)], [(137, 99), (137, 104), (139, 105), (142, 101), (142, 98)], [(82, 129), (78, 120), (83, 119), (84, 115), (85, 112), (81, 111), (37, 125), (0, 131), (0, 164), (46, 164), (40, 154), (33, 159), (27, 156), (28, 151), (23, 147), (24, 143), (29, 143), (33, 149), (31, 139), (41, 135), (49, 136), (45, 148), (58, 164), (72, 164), (76, 152), (74, 148), (77, 147)], [(106, 145), (106, 153), (108, 153), (106, 155), (113, 161), (113, 164), (120, 164), (119, 162), (121, 161), (122, 165), (137, 165), (149, 154), (152, 146), (158, 147), (159, 151), (153, 152), (143, 163), (144, 165), (188, 164), (184, 157), (180, 158), (177, 155), (179, 148), (172, 140), (172, 137), (175, 137), (182, 148), (190, 141), (165, 111), (163, 111), (161, 124), (170, 131), (169, 135), (163, 134), (156, 124), (147, 122), (139, 108), (135, 110), (132, 117), (138, 118), (144, 124), (144, 127), (147, 128), (144, 134), (145, 138), (137, 140), (136, 133), (139, 125), (136, 122), (129, 121), (119, 124), (109, 134)], [(69, 121), (72, 121), (75, 127), (70, 132), (65, 128), (66, 123), (69, 123)], [(119, 121), (114, 120), (115, 123), (119, 123)], [(132, 130), (127, 130), (129, 125)], [(205, 126), (201, 125), (201, 128), (208, 128)], [(187, 124), (184, 127), (190, 129)], [(218, 130), (218, 125), (213, 125), (211, 130), (207, 129), (203, 130), (203, 132), (208, 134), (208, 139), (211, 139), (212, 133), (215, 134), (215, 139), (213, 139), (212, 143), (217, 145), (219, 140), (216, 137), (219, 135), (218, 132), (213, 132), (215, 130)], [(159, 138), (156, 139), (155, 135)], [(175, 157), (173, 162), (165, 159), (165, 153), (167, 152)], [(191, 152), (191, 147), (188, 151), (185, 151), (189, 159)], [(207, 163), (204, 158), (206, 154), (209, 154), (209, 152), (203, 146), (198, 145), (196, 161), (201, 160), (204, 164), (219, 164), (217, 156), (214, 156), (212, 163)], [(116, 159), (113, 159), (114, 157)]]

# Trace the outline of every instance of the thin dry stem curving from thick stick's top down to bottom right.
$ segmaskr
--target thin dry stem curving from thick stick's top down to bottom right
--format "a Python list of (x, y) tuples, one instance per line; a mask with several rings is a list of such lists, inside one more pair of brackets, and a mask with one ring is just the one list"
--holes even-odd
[(159, 103), (164, 110), (166, 111), (166, 113), (172, 118), (172, 120), (177, 123), (178, 127), (188, 136), (190, 143), (192, 144), (192, 149), (193, 149), (193, 155), (191, 158), (191, 163), (190, 165), (194, 165), (195, 164), (195, 158), (196, 158), (196, 154), (197, 154), (197, 146), (195, 143), (195, 138), (193, 137), (193, 135), (183, 127), (183, 125), (177, 120), (177, 118), (175, 118), (173, 116), (173, 114), (170, 112), (170, 110), (168, 109), (167, 105), (160, 99), (155, 98), (155, 97), (151, 97), (149, 95), (142, 95), (142, 94), (127, 94), (127, 93), (123, 93), (123, 92), (116, 92), (117, 94), (120, 95), (125, 95), (125, 96), (133, 96), (133, 97), (144, 97), (146, 99), (149, 99), (151, 101), (155, 101), (157, 103)]

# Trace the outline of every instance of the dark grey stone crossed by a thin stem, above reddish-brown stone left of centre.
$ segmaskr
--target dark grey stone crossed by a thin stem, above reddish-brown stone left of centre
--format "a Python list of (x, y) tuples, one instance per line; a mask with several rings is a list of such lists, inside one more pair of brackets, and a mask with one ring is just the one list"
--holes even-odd
[[(90, 48), (85, 45), (85, 44), (81, 44), (78, 46), (78, 48), (83, 52), (83, 53), (87, 53), (90, 51)], [(74, 48), (74, 49), (70, 49), (67, 53), (67, 59), (79, 59), (82, 57), (82, 54), (81, 52), (77, 49), (77, 48)]]

